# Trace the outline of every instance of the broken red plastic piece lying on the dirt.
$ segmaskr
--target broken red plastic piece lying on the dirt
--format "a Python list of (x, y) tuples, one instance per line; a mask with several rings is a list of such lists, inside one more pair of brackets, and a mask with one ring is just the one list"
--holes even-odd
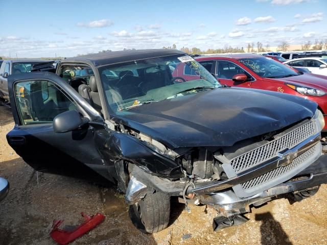
[(85, 222), (73, 230), (58, 229), (58, 227), (64, 222), (64, 220), (54, 220), (52, 226), (53, 228), (50, 232), (50, 236), (52, 237), (52, 239), (54, 239), (61, 245), (68, 244), (69, 242), (74, 241), (78, 237), (81, 237), (86, 232), (98, 226), (105, 219), (105, 216), (101, 213), (97, 213), (93, 216), (88, 216), (83, 212), (81, 214), (85, 218)]

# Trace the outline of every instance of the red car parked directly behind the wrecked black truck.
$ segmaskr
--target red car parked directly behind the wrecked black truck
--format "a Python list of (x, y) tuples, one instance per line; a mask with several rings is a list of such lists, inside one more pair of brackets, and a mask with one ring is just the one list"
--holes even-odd
[(254, 54), (199, 56), (195, 58), (221, 84), (289, 93), (318, 104), (327, 130), (327, 77), (303, 74), (281, 62)]

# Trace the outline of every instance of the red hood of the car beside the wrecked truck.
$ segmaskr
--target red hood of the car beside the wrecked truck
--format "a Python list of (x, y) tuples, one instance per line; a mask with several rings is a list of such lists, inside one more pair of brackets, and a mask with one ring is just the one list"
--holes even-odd
[(292, 83), (300, 86), (309, 86), (313, 88), (318, 88), (327, 92), (327, 77), (317, 74), (305, 73), (299, 76), (289, 77), (289, 78), (276, 78), (276, 79), (264, 79), (265, 81), (279, 81), (283, 83)]

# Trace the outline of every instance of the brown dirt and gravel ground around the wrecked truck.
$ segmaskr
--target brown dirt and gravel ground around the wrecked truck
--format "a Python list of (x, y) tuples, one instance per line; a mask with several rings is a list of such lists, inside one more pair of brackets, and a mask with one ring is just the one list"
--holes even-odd
[(212, 231), (211, 209), (192, 206), (189, 214), (173, 203), (170, 226), (143, 234), (130, 222), (124, 196), (114, 187), (41, 173), (37, 183), (36, 172), (7, 144), (13, 125), (10, 108), (0, 106), (0, 176), (11, 187), (0, 203), (0, 245), (56, 244), (49, 236), (53, 220), (77, 225), (80, 212), (101, 212), (106, 219), (72, 244), (327, 244), (327, 185), (293, 205), (280, 199), (252, 208), (247, 223), (218, 232)]

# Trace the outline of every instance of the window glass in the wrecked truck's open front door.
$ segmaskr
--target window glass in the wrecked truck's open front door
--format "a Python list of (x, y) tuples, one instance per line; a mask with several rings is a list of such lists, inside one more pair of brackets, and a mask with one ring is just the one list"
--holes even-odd
[(23, 125), (53, 122), (56, 115), (76, 110), (75, 103), (49, 81), (18, 82), (14, 91)]

